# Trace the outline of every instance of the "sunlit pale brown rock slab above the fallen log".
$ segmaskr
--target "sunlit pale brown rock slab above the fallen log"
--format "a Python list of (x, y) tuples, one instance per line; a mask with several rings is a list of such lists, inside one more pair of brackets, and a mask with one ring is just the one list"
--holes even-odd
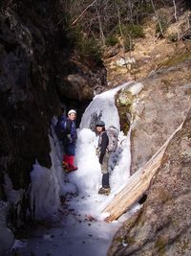
[(187, 60), (159, 70), (141, 81), (143, 86), (137, 94), (132, 95), (130, 88), (118, 95), (118, 99), (127, 98), (125, 108), (119, 103), (119, 112), (126, 111), (126, 123), (127, 114), (132, 116), (132, 174), (159, 150), (185, 118), (191, 103), (190, 68)]

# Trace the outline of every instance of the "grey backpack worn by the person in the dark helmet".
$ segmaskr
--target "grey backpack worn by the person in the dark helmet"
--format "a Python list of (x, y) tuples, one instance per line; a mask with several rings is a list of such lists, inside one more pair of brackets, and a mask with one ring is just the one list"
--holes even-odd
[(115, 127), (109, 127), (106, 132), (109, 138), (107, 150), (109, 152), (115, 152), (117, 150), (118, 129)]

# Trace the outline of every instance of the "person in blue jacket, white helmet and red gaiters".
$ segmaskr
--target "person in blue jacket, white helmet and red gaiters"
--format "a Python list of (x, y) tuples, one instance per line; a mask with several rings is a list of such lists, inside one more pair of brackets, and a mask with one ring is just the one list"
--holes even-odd
[(65, 129), (65, 135), (63, 139), (63, 146), (64, 146), (63, 166), (66, 167), (68, 172), (73, 172), (77, 170), (77, 167), (74, 166), (75, 143), (77, 139), (75, 119), (76, 119), (76, 111), (74, 109), (71, 109), (68, 112), (68, 118), (66, 122), (62, 123), (62, 126)]

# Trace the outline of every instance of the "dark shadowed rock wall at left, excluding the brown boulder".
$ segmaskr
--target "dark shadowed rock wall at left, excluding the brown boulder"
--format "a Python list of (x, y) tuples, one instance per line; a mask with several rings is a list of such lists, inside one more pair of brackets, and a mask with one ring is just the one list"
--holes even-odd
[(50, 167), (49, 126), (59, 105), (52, 59), (58, 48), (33, 7), (18, 2), (0, 15), (0, 170), (26, 188), (35, 159)]

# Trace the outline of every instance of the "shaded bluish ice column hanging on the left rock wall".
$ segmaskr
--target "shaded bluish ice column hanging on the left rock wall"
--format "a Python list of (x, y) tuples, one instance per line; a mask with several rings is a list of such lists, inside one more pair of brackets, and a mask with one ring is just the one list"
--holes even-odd
[[(53, 136), (53, 137), (52, 137)], [(31, 207), (33, 219), (45, 219), (57, 213), (60, 206), (60, 196), (67, 192), (76, 192), (73, 184), (68, 186), (66, 176), (61, 166), (62, 151), (60, 143), (54, 133), (49, 136), (51, 144), (52, 167), (48, 169), (37, 161), (31, 173)]]

